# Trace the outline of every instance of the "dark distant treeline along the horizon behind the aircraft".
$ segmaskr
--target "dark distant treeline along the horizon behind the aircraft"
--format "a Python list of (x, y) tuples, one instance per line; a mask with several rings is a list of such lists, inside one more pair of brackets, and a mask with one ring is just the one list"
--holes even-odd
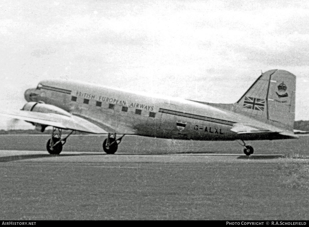
[[(297, 130), (302, 130), (302, 131), (309, 131), (309, 121), (295, 121), (294, 122), (294, 129)], [(70, 130), (62, 130), (63, 134), (68, 134), (70, 133)], [(33, 134), (33, 135), (40, 135), (40, 134), (47, 134), (47, 135), (51, 135), (52, 134), (52, 130), (48, 129), (45, 130), (43, 133), (36, 131), (36, 130), (32, 130), (32, 129), (27, 129), (27, 130), (23, 130), (23, 129), (13, 129), (13, 130), (0, 130), (0, 135), (11, 135), (11, 134)], [(74, 132), (74, 135), (87, 135), (90, 133), (87, 132)]]

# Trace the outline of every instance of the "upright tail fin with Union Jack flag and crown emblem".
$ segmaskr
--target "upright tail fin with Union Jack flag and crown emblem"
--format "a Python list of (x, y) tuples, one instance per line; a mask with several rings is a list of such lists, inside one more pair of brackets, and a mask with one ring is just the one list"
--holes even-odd
[(285, 70), (263, 73), (238, 100), (235, 112), (293, 131), (296, 77)]

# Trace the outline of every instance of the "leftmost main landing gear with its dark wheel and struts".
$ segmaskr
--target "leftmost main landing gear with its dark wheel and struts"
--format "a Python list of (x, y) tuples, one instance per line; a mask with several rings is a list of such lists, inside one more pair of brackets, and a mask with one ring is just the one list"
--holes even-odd
[[(58, 131), (56, 131), (58, 130)], [(52, 132), (52, 138), (47, 141), (46, 149), (49, 154), (60, 154), (62, 146), (66, 143), (66, 139), (73, 133), (72, 130), (65, 138), (61, 139), (62, 129), (54, 128)]]

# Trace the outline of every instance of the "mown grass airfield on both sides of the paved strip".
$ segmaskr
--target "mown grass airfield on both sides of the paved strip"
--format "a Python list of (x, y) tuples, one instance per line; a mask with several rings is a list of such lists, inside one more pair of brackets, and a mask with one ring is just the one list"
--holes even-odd
[[(0, 136), (1, 149), (45, 150), (48, 138)], [(72, 136), (64, 151), (102, 151), (103, 138)], [(290, 162), (254, 159), (243, 163), (49, 162), (48, 158), (39, 158), (42, 155), (32, 161), (1, 162), (7, 159), (0, 158), (0, 217), (4, 220), (308, 220), (308, 138), (248, 143), (255, 148), (254, 154), (284, 154), (293, 158)], [(173, 153), (243, 155), (235, 141), (136, 136), (125, 137), (117, 152), (164, 157)], [(101, 157), (104, 160), (110, 156)]]

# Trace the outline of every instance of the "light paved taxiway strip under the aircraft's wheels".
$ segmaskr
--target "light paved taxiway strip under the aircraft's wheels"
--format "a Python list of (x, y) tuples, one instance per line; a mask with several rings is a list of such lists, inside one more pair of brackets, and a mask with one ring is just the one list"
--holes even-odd
[(63, 163), (286, 163), (309, 162), (307, 158), (285, 158), (282, 154), (139, 154), (104, 152), (61, 152), (1, 150), (0, 162), (63, 162)]

